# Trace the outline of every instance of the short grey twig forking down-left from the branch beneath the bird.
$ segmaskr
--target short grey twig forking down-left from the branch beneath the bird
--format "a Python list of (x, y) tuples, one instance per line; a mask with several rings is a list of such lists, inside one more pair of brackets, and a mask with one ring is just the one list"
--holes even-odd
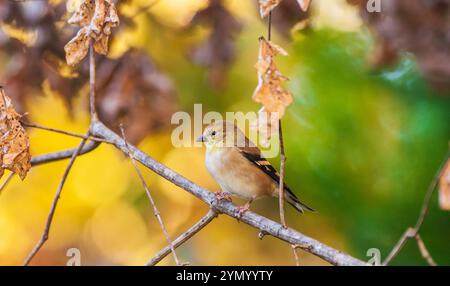
[[(196, 224), (191, 226), (188, 230), (183, 232), (179, 237), (177, 237), (173, 241), (173, 247), (177, 248), (186, 241), (188, 241), (191, 237), (193, 237), (196, 233), (202, 230), (205, 226), (207, 226), (215, 217), (217, 216), (216, 212), (213, 210), (209, 210), (208, 213), (202, 217)], [(161, 249), (155, 256), (152, 257), (145, 265), (146, 266), (154, 266), (158, 264), (161, 260), (164, 259), (170, 253), (170, 245)]]

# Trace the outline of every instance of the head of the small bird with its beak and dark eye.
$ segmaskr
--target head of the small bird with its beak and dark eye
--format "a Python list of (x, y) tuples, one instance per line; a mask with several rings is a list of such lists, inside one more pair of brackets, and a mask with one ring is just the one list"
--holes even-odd
[(245, 142), (245, 135), (233, 123), (215, 121), (205, 128), (197, 142), (204, 142), (206, 147), (232, 147)]

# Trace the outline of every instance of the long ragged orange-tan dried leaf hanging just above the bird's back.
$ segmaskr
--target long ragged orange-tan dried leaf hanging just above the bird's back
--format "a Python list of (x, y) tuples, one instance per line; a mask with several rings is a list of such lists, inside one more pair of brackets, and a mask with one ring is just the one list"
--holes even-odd
[[(288, 80), (278, 70), (273, 58), (277, 55), (286, 56), (287, 52), (264, 37), (259, 39), (258, 86), (253, 93), (253, 100), (263, 105), (258, 113), (258, 132), (263, 142), (278, 131), (278, 121), (284, 116), (286, 107), (292, 103), (292, 94), (281, 84)], [(264, 144), (262, 144), (264, 145)]]

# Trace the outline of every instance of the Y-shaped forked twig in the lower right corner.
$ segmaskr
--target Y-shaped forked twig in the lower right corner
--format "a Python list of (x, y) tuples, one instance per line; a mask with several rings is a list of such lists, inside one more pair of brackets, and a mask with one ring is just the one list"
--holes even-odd
[[(409, 227), (404, 233), (403, 235), (400, 237), (399, 241), (395, 244), (394, 248), (391, 250), (391, 252), (389, 253), (389, 255), (386, 257), (386, 259), (383, 262), (383, 265), (389, 265), (392, 260), (394, 260), (395, 257), (397, 257), (397, 255), (400, 253), (400, 251), (403, 249), (403, 246), (405, 246), (405, 244), (407, 243), (407, 241), (409, 239), (415, 238), (416, 242), (417, 242), (417, 246), (419, 247), (419, 250), (422, 254), (422, 256), (424, 256), (424, 250), (426, 251), (426, 255), (424, 256), (424, 258), (428, 261), (429, 259), (431, 259), (431, 261), (436, 264), (434, 262), (434, 260), (431, 258), (430, 253), (428, 252), (428, 250), (425, 247), (425, 243), (423, 242), (422, 238), (420, 238), (419, 236), (419, 232), (420, 232), (420, 228), (423, 225), (423, 222), (425, 221), (425, 218), (428, 214), (428, 210), (430, 208), (430, 203), (431, 203), (431, 198), (433, 197), (433, 193), (436, 190), (437, 184), (439, 182), (439, 178), (441, 176), (442, 170), (445, 166), (445, 163), (449, 160), (450, 158), (450, 151), (447, 152), (447, 155), (445, 156), (445, 160), (442, 162), (441, 166), (439, 167), (438, 171), (436, 172), (436, 174), (433, 177), (433, 180), (430, 183), (430, 186), (428, 187), (428, 190), (425, 194), (425, 197), (423, 199), (423, 203), (422, 203), (422, 208), (420, 209), (420, 214), (419, 217), (417, 218), (417, 222), (416, 225), (414, 227)], [(430, 263), (430, 265), (433, 265)]]

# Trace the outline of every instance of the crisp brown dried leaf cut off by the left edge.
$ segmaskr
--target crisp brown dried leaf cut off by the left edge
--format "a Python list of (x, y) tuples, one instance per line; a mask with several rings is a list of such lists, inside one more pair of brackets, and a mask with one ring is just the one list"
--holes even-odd
[(12, 101), (0, 88), (0, 177), (5, 169), (23, 180), (31, 168), (28, 135), (20, 124), (20, 115)]

